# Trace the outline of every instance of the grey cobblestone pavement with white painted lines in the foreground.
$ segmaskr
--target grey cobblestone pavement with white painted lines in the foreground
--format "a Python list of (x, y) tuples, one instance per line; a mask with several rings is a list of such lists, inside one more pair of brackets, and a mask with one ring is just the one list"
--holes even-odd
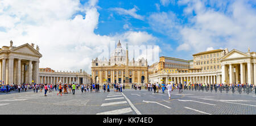
[(256, 114), (256, 95), (214, 91), (184, 90), (154, 94), (154, 91), (125, 89), (122, 93), (81, 93), (57, 95), (57, 92), (0, 93), (1, 114), (125, 114), (125, 115), (221, 115)]

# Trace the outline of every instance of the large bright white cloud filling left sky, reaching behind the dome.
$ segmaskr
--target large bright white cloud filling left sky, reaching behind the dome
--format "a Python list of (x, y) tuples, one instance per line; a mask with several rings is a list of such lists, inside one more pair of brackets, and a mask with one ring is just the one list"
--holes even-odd
[[(0, 1), (1, 46), (35, 43), (43, 57), (40, 68), (84, 69), (90, 74), (92, 59), (101, 54), (99, 45), (125, 39), (129, 44), (145, 44), (155, 39), (147, 32), (124, 32), (112, 36), (96, 35), (100, 14), (97, 0), (81, 5), (79, 0)], [(77, 14), (85, 12), (85, 16)], [(1, 30), (1, 29), (0, 29)], [(134, 40), (133, 38), (139, 38)]]

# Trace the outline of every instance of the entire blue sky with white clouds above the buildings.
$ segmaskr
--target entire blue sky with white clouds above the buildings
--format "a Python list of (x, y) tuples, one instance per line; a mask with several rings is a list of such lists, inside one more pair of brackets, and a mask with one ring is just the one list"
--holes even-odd
[(256, 1), (249, 0), (0, 1), (1, 46), (35, 43), (40, 68), (88, 73), (92, 59), (118, 40), (159, 45), (159, 56), (185, 60), (212, 49), (255, 52), (255, 22)]

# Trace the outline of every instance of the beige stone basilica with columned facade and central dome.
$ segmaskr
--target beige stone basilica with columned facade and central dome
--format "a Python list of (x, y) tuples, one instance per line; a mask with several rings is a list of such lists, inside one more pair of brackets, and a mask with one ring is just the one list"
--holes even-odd
[(92, 60), (93, 83), (148, 83), (147, 60), (129, 61), (128, 49), (120, 41), (109, 60)]

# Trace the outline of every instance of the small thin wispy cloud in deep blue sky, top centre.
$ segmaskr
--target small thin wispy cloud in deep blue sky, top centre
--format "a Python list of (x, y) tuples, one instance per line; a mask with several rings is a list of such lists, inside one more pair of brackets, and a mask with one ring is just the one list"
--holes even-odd
[(129, 9), (129, 10), (119, 8), (119, 7), (115, 7), (110, 10), (116, 11), (120, 15), (130, 15), (135, 19), (144, 20), (144, 16), (136, 14), (136, 12), (138, 11), (137, 6), (134, 6), (133, 9)]

